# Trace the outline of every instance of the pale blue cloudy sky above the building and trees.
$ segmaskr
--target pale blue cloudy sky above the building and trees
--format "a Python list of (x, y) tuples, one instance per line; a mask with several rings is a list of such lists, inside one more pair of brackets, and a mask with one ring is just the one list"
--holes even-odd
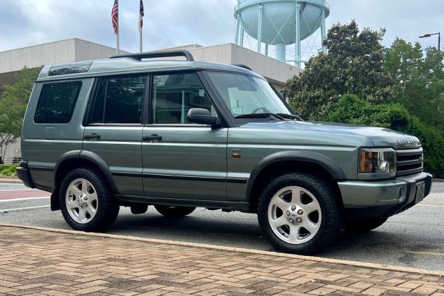
[[(115, 47), (111, 9), (114, 0), (0, 0), (0, 52), (30, 45), (79, 38)], [(143, 51), (186, 44), (234, 43), (236, 0), (143, 0)], [(383, 45), (396, 37), (423, 48), (438, 45), (444, 35), (444, 0), (327, 0), (334, 23), (358, 23), (360, 30), (385, 28)], [(120, 49), (139, 51), (139, 0), (119, 1)], [(301, 42), (303, 59), (321, 45), (319, 32)], [(443, 36), (444, 37), (444, 36)], [(254, 39), (244, 42), (246, 47)], [(294, 47), (293, 47), (294, 48)], [(441, 50), (444, 49), (444, 38)], [(290, 52), (291, 49), (287, 50)]]

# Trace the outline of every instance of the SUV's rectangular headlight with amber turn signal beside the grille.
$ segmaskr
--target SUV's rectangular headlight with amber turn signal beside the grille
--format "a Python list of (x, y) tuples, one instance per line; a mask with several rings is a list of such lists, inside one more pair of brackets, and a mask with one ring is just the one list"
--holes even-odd
[(359, 149), (358, 178), (374, 180), (396, 175), (396, 151), (392, 148)]

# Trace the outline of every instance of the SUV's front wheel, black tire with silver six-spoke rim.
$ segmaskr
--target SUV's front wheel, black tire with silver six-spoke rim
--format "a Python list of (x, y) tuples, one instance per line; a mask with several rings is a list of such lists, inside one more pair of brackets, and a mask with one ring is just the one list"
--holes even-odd
[(299, 255), (319, 253), (342, 228), (342, 207), (336, 191), (310, 173), (286, 173), (263, 190), (258, 220), (277, 251)]

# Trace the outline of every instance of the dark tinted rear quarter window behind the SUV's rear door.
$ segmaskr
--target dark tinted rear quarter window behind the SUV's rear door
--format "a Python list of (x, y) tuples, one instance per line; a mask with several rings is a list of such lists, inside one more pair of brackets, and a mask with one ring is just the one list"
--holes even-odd
[(34, 123), (69, 123), (81, 86), (81, 81), (44, 84), (35, 110)]

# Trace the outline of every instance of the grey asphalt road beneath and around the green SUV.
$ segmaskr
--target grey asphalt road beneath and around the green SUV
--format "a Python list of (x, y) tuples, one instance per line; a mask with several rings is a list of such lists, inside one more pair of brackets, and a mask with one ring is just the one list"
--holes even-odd
[[(26, 187), (0, 184), (0, 222), (69, 229), (60, 211), (50, 211), (49, 198), (8, 198), (8, 201), (1, 201), (1, 196), (10, 194), (10, 190), (28, 198), (42, 195), (42, 191), (20, 192), (19, 189)], [(45, 194), (49, 196), (49, 193)], [(129, 209), (122, 208), (119, 218), (108, 232), (271, 250), (261, 235), (256, 215), (238, 212), (224, 213), (199, 208), (188, 217), (166, 219), (152, 207), (142, 215), (132, 215)], [(341, 233), (339, 241), (319, 256), (444, 271), (444, 183), (435, 183), (432, 193), (423, 202), (393, 216), (370, 233)]]

